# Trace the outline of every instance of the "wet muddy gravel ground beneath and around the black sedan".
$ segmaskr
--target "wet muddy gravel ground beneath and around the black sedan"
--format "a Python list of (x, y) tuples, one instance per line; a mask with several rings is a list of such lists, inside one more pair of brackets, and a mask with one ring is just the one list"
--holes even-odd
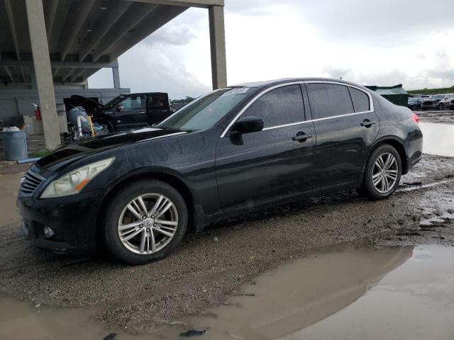
[(367, 237), (377, 245), (454, 246), (449, 157), (425, 154), (388, 200), (372, 202), (355, 192), (301, 200), (189, 234), (175, 254), (145, 266), (31, 248), (11, 208), (20, 177), (0, 174), (0, 290), (36, 304), (94, 307), (97, 321), (131, 332), (206, 314), (258, 273), (339, 242)]

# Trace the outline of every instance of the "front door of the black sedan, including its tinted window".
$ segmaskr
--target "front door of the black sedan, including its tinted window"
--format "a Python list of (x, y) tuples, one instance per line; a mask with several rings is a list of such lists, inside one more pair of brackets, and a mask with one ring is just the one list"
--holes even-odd
[(314, 189), (316, 138), (313, 123), (304, 123), (300, 85), (268, 91), (241, 115), (246, 116), (262, 118), (265, 128), (242, 135), (227, 134), (216, 146), (222, 208)]

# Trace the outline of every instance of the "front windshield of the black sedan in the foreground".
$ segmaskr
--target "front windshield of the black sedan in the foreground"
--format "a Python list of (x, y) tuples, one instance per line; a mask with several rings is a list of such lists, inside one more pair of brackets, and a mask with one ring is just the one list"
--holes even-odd
[(249, 87), (220, 89), (197, 98), (171, 115), (157, 128), (204, 130), (218, 123), (250, 93)]

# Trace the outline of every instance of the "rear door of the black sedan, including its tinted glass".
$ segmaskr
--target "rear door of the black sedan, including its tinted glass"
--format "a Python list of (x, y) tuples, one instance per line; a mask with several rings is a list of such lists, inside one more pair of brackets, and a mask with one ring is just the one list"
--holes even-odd
[(306, 84), (317, 135), (318, 188), (360, 179), (367, 151), (377, 137), (380, 120), (372, 97), (345, 84)]

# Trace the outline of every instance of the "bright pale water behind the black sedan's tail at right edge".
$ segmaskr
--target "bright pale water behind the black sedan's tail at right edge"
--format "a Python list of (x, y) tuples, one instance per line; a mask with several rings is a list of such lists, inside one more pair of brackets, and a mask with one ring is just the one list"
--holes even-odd
[(454, 157), (454, 125), (440, 123), (419, 123), (423, 132), (423, 152)]

